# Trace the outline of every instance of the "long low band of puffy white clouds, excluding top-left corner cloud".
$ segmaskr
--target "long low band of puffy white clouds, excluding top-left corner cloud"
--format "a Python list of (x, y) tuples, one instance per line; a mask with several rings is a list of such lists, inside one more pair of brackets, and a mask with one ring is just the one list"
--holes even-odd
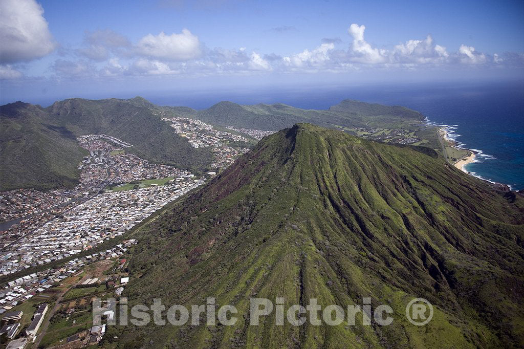
[[(322, 39), (321, 45), (287, 57), (263, 54), (240, 47), (208, 48), (188, 29), (180, 34), (148, 34), (137, 42), (109, 30), (86, 32), (81, 48), (70, 49), (83, 58), (57, 60), (51, 67), (57, 77), (96, 78), (124, 75), (177, 75), (197, 77), (254, 72), (343, 72), (362, 69), (432, 69), (467, 63), (472, 66), (524, 66), (524, 54), (503, 52), (487, 56), (473, 47), (462, 45), (447, 51), (428, 35), (398, 43), (390, 49), (378, 49), (365, 40), (364, 25), (352, 24), (347, 32), (353, 41), (347, 49), (335, 49), (340, 39)], [(63, 48), (64, 46), (62, 46)], [(249, 53), (250, 52), (250, 53)], [(67, 56), (67, 55), (64, 55)], [(78, 57), (77, 57), (78, 58)], [(2, 66), (3, 78), (20, 78), (19, 64)]]

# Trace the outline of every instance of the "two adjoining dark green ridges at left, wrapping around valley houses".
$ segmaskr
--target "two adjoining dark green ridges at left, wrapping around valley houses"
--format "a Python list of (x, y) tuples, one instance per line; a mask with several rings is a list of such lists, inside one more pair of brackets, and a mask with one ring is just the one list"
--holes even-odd
[(2, 190), (74, 187), (86, 155), (76, 137), (106, 134), (133, 144), (129, 151), (156, 163), (205, 169), (209, 149), (192, 148), (140, 99), (68, 99), (42, 108), (27, 103), (2, 106)]

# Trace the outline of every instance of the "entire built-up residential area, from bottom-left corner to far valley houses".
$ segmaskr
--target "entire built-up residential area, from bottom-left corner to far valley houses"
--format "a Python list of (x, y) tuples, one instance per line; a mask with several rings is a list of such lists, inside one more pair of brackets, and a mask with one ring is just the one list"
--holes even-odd
[[(54, 341), (52, 334), (59, 332), (53, 330), (57, 326), (53, 323), (77, 317), (88, 321), (82, 315), (87, 303), (82, 303), (80, 309), (70, 307), (69, 302), (62, 307), (62, 297), (84, 289), (104, 290), (104, 294), (121, 297), (129, 282), (123, 256), (137, 243), (124, 234), (249, 150), (244, 146), (249, 140), (235, 130), (217, 130), (192, 119), (174, 117), (165, 121), (172, 123), (174, 132), (187, 138), (193, 147), (210, 147), (214, 154), (212, 171), (195, 176), (187, 170), (151, 163), (127, 151), (132, 144), (104, 134), (90, 134), (77, 139), (89, 153), (78, 165), (80, 180), (74, 188), (2, 192), (0, 275), (16, 273), (16, 278), (0, 291), (0, 330), (9, 340), (9, 348), (31, 347), (43, 341), (44, 347), (53, 344), (57, 349), (70, 349), (100, 342), (106, 324), (88, 322), (83, 322), (77, 333), (58, 343)], [(252, 137), (266, 133), (243, 131)], [(104, 243), (111, 247), (98, 247)], [(105, 263), (110, 267), (114, 261), (117, 266), (112, 267), (109, 276), (88, 272), (92, 265)], [(43, 270), (24, 274), (36, 267)], [(74, 324), (77, 320), (72, 321)]]

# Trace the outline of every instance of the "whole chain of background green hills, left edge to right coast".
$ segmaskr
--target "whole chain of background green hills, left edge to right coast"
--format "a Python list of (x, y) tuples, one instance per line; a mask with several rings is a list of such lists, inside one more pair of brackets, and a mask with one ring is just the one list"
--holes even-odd
[(211, 151), (192, 148), (187, 139), (173, 132), (169, 123), (161, 121), (162, 117), (172, 116), (197, 118), (222, 130), (226, 129), (220, 126), (279, 130), (294, 123), (309, 122), (379, 140), (388, 138), (396, 130), (399, 137), (386, 141), (416, 136), (421, 140), (419, 144), (440, 149), (435, 129), (424, 125), (420, 113), (400, 106), (350, 100), (329, 110), (221, 102), (196, 111), (188, 107), (159, 107), (140, 97), (100, 101), (68, 99), (47, 108), (22, 102), (7, 104), (2, 106), (1, 115), (2, 190), (74, 187), (79, 178), (78, 163), (86, 154), (78, 147), (76, 137), (86, 134), (122, 139), (133, 144), (126, 151), (151, 162), (193, 171), (206, 170), (212, 162)]

